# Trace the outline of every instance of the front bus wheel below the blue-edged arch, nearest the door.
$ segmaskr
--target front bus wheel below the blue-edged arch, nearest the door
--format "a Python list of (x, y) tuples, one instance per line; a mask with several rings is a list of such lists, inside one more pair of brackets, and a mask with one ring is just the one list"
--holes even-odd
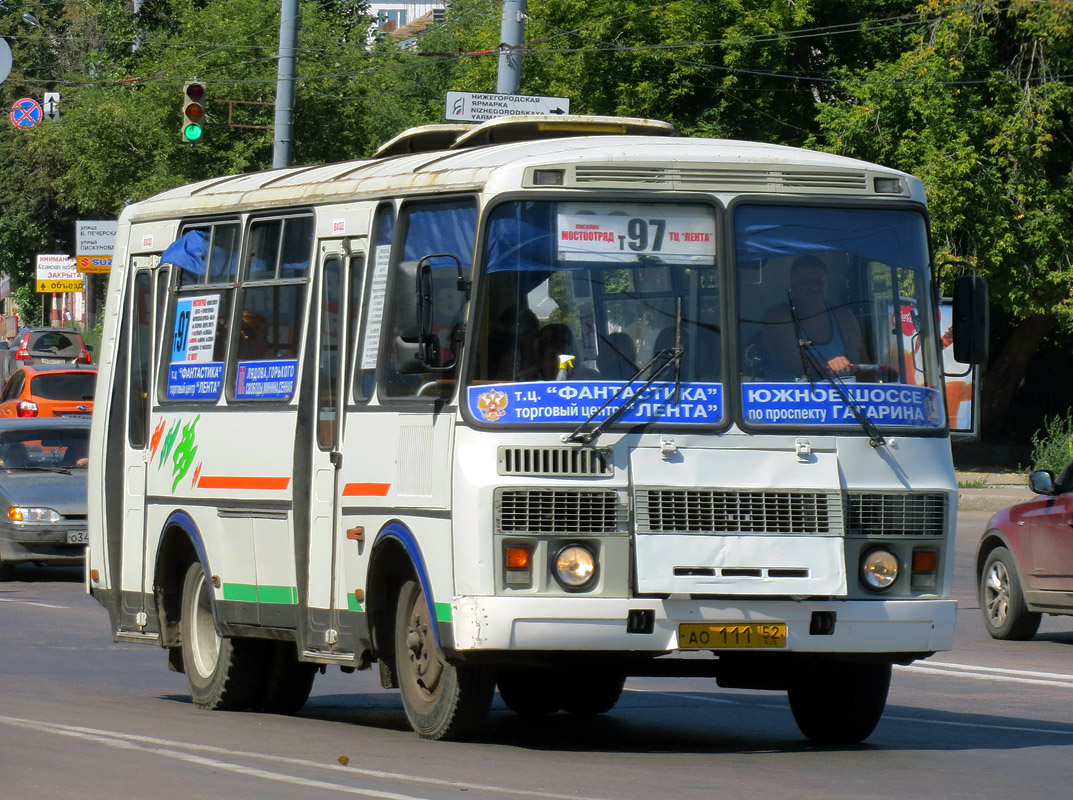
[(488, 714), (494, 670), (449, 664), (436, 643), (425, 592), (415, 580), (399, 590), (395, 663), (407, 720), (423, 739), (462, 739)]

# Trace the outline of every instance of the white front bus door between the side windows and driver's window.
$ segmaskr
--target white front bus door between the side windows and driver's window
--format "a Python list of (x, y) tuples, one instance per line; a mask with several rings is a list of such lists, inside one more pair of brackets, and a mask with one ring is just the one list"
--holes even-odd
[[(312, 451), (309, 497), (309, 558), (307, 573), (308, 650), (353, 653), (353, 636), (339, 614), (339, 550), (348, 543), (340, 531), (343, 410), (348, 365), (361, 307), (365, 256), (352, 252), (351, 240), (322, 241), (321, 280), (315, 308), (320, 310), (315, 337), (315, 375), (303, 381), (309, 397), (302, 404), (315, 409), (308, 436)], [(299, 572), (302, 564), (299, 563)], [(342, 591), (346, 591), (343, 589)], [(342, 601), (346, 609), (346, 599)], [(344, 617), (344, 616), (343, 616)]]

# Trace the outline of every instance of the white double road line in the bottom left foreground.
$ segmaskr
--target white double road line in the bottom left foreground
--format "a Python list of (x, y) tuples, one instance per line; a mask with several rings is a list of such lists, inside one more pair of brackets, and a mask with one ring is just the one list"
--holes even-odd
[[(145, 753), (151, 753), (155, 755), (164, 756), (167, 758), (176, 758), (178, 760), (190, 761), (191, 764), (197, 764), (214, 769), (229, 770), (241, 774), (253, 775), (255, 777), (264, 777), (265, 780), (269, 781), (294, 783), (300, 786), (312, 786), (314, 788), (334, 789), (336, 791), (342, 791), (349, 795), (361, 795), (363, 797), (382, 798), (383, 800), (427, 800), (427, 798), (422, 798), (413, 795), (399, 795), (391, 791), (378, 791), (376, 789), (363, 789), (356, 786), (347, 786), (346, 784), (335, 784), (335, 783), (326, 783), (323, 781), (313, 781), (306, 777), (300, 777), (298, 775), (289, 775), (283, 772), (273, 772), (268, 770), (256, 769), (254, 767), (246, 767), (240, 764), (232, 764), (231, 761), (221, 761), (216, 758), (205, 758), (203, 756), (194, 755), (193, 752), (207, 751), (214, 754), (222, 754), (224, 756), (233, 758), (249, 758), (251, 760), (275, 761), (277, 764), (288, 765), (292, 767), (332, 770), (332, 771), (348, 773), (351, 775), (354, 774), (363, 775), (365, 777), (377, 777), (377, 779), (400, 781), (413, 784), (427, 784), (430, 786), (438, 786), (447, 789), (457, 789), (460, 791), (487, 791), (496, 797), (511, 796), (511, 797), (541, 798), (541, 800), (577, 800), (576, 795), (558, 795), (550, 791), (513, 789), (506, 786), (493, 786), (486, 784), (466, 783), (461, 781), (444, 781), (441, 779), (424, 777), (422, 775), (410, 775), (400, 772), (382, 772), (380, 770), (363, 769), (361, 767), (354, 767), (352, 765), (343, 766), (341, 764), (313, 761), (306, 758), (291, 758), (288, 756), (276, 756), (265, 753), (249, 753), (246, 751), (229, 750), (226, 747), (217, 747), (206, 744), (194, 744), (190, 742), (179, 742), (170, 739), (158, 739), (156, 737), (138, 736), (136, 734), (123, 734), (122, 731), (118, 730), (85, 728), (75, 725), (61, 725), (57, 723), (24, 720), (16, 716), (0, 715), (0, 723), (5, 723), (8, 725), (13, 725), (16, 727), (29, 728), (31, 730), (47, 730), (48, 732), (57, 734), (59, 736), (69, 736), (69, 737), (74, 737), (76, 739), (85, 739), (87, 741), (97, 742), (99, 744), (104, 744), (109, 747), (117, 747), (120, 750), (137, 750)], [(182, 751), (192, 751), (192, 752), (185, 753)], [(602, 800), (602, 799), (591, 798), (591, 800)]]

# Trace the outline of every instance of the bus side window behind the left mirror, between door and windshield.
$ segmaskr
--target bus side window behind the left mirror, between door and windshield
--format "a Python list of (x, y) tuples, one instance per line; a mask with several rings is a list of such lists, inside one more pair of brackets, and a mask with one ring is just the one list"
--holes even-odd
[[(399, 336), (399, 320), (395, 317), (396, 296), (399, 292), (413, 291), (394, 281), (392, 324), (388, 326), (388, 356), (383, 373), (381, 392), (389, 398), (449, 397), (454, 392), (461, 350), (462, 318), (466, 296), (458, 288), (458, 270), (469, 277), (476, 237), (476, 206), (471, 199), (453, 199), (438, 203), (415, 203), (403, 208), (399, 218), (403, 232), (402, 252), (392, 263), (416, 262), (431, 256), (432, 275), (432, 336), (436, 341), (436, 362), (426, 371), (412, 371), (399, 365), (391, 347)], [(444, 257), (447, 253), (454, 257)], [(457, 261), (456, 261), (457, 260)], [(396, 275), (396, 278), (398, 275)]]

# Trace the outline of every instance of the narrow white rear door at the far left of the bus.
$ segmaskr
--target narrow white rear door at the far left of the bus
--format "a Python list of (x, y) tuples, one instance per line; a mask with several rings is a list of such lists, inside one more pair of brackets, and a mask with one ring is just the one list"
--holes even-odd
[[(124, 315), (124, 324), (130, 324), (126, 331), (130, 345), (126, 353), (127, 408), (111, 409), (113, 415), (126, 412), (127, 418), (123, 463), (118, 473), (122, 475), (122, 486), (108, 487), (121, 488), (116, 494), (122, 498), (121, 628), (142, 634), (157, 633), (157, 614), (149, 613), (147, 607), (152, 597), (152, 578), (146, 575), (149, 540), (145, 499), (152, 446), (149, 414), (160, 351), (156, 334), (167, 297), (168, 268), (160, 267), (159, 262), (158, 255), (132, 258), (130, 313)], [(147, 629), (148, 625), (152, 627)]]

